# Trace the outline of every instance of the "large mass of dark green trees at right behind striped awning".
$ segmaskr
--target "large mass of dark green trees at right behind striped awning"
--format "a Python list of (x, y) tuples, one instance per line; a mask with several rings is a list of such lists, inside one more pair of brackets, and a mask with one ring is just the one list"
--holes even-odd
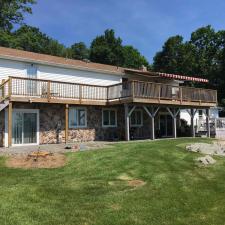
[(225, 31), (206, 26), (186, 42), (181, 36), (171, 37), (155, 55), (153, 66), (156, 71), (209, 79), (209, 84), (198, 86), (217, 89), (221, 102), (225, 96)]

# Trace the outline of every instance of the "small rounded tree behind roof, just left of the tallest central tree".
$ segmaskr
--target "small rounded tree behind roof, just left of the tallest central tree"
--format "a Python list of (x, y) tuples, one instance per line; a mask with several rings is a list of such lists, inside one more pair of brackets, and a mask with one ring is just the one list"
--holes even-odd
[(86, 47), (84, 42), (73, 44), (71, 47), (71, 57), (73, 59), (89, 59), (89, 49)]

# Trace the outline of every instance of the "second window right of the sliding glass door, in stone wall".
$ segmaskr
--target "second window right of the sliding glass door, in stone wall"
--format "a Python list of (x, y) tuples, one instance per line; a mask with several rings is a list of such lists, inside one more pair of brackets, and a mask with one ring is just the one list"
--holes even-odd
[(103, 127), (117, 126), (117, 111), (115, 109), (102, 110), (102, 126)]

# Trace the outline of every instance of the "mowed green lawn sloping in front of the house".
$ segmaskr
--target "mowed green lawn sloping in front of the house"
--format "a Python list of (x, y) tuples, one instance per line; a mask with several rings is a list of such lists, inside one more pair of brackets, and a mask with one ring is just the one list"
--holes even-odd
[[(225, 224), (225, 158), (199, 167), (181, 147), (192, 141), (70, 153), (58, 169), (9, 169), (0, 158), (0, 224)], [(135, 189), (121, 175), (146, 184)]]

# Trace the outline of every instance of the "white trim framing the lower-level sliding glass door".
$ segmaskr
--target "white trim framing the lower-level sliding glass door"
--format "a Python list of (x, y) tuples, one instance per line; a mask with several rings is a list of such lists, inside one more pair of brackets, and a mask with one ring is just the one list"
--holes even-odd
[[(37, 142), (31, 144), (12, 144), (12, 146), (28, 146), (28, 145), (39, 145), (40, 144), (40, 121), (39, 121), (39, 109), (13, 109), (13, 112), (23, 112), (23, 113), (36, 113), (37, 114)], [(8, 146), (8, 110), (5, 110), (5, 147)]]

